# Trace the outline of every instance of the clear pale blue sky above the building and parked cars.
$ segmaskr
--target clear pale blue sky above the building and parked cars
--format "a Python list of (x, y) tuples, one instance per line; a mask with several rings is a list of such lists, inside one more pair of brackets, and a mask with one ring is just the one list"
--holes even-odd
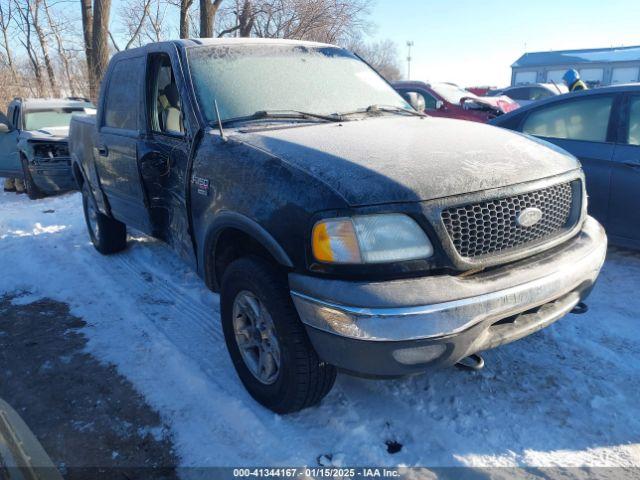
[(638, 0), (377, 0), (373, 36), (399, 47), (411, 78), (505, 86), (523, 53), (640, 45)]

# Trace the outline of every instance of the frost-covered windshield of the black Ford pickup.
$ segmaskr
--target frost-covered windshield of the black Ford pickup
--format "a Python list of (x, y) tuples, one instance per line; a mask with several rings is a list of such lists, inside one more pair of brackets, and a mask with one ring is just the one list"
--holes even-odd
[(411, 108), (375, 71), (346, 50), (299, 45), (196, 47), (188, 51), (207, 120), (259, 111), (333, 114), (377, 104)]

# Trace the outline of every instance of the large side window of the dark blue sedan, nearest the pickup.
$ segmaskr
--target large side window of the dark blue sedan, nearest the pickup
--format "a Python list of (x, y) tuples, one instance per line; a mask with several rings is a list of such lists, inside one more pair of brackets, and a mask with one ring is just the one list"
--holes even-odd
[(539, 137), (605, 142), (613, 97), (580, 98), (534, 110), (522, 131)]

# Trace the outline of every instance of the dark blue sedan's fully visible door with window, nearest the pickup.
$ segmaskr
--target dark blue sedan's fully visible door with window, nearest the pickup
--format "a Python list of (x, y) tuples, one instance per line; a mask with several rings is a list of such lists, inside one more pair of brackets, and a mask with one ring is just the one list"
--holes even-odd
[(522, 131), (567, 150), (582, 163), (589, 213), (609, 222), (609, 195), (615, 149), (616, 95), (586, 95), (531, 110)]

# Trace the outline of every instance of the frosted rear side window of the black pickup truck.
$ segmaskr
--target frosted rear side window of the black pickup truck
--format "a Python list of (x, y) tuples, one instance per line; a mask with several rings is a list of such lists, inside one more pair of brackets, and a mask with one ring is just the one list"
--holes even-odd
[(109, 77), (104, 107), (104, 125), (123, 130), (138, 129), (136, 106), (140, 104), (139, 75), (142, 70), (136, 58), (120, 60)]

